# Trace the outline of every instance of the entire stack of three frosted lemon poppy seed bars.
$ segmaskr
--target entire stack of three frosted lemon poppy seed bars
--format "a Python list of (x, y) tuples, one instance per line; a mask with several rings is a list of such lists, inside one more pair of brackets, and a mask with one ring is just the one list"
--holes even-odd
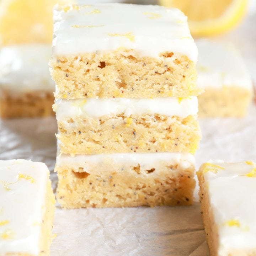
[(197, 55), (178, 9), (55, 7), (50, 66), (63, 207), (193, 203)]

